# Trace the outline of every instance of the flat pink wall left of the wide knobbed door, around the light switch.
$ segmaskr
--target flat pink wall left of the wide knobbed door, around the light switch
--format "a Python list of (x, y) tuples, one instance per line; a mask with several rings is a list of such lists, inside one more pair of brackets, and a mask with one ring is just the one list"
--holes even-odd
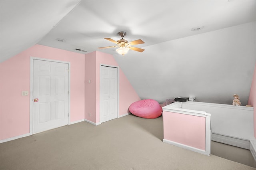
[(25, 54), (0, 63), (0, 140), (29, 133), (30, 60)]

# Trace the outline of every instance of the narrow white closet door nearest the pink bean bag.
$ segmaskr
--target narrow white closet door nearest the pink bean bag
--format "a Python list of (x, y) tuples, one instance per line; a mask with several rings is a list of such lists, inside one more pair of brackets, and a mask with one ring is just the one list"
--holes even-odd
[(117, 118), (118, 69), (101, 66), (100, 75), (100, 122)]

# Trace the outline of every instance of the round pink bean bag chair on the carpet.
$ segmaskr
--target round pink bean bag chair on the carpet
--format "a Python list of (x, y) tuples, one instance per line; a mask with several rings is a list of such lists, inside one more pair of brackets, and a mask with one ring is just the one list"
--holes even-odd
[(144, 99), (132, 103), (129, 107), (130, 113), (147, 119), (154, 119), (162, 115), (162, 107), (153, 99)]

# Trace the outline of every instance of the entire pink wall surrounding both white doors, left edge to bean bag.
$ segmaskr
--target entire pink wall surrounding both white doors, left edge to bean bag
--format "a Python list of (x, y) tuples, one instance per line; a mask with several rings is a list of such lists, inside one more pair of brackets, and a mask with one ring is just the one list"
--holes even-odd
[[(118, 66), (114, 57), (34, 45), (0, 63), (0, 140), (30, 133), (30, 94), (21, 95), (30, 91), (30, 56), (70, 62), (70, 121), (100, 122), (100, 64)], [(119, 79), (119, 115), (124, 115), (140, 97), (121, 69)]]

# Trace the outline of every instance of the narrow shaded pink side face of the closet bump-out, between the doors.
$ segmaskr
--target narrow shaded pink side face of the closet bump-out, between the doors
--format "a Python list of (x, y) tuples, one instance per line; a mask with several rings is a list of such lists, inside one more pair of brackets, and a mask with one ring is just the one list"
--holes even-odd
[[(84, 118), (96, 122), (96, 52), (85, 55), (85, 113)], [(89, 80), (91, 83), (89, 83)]]

